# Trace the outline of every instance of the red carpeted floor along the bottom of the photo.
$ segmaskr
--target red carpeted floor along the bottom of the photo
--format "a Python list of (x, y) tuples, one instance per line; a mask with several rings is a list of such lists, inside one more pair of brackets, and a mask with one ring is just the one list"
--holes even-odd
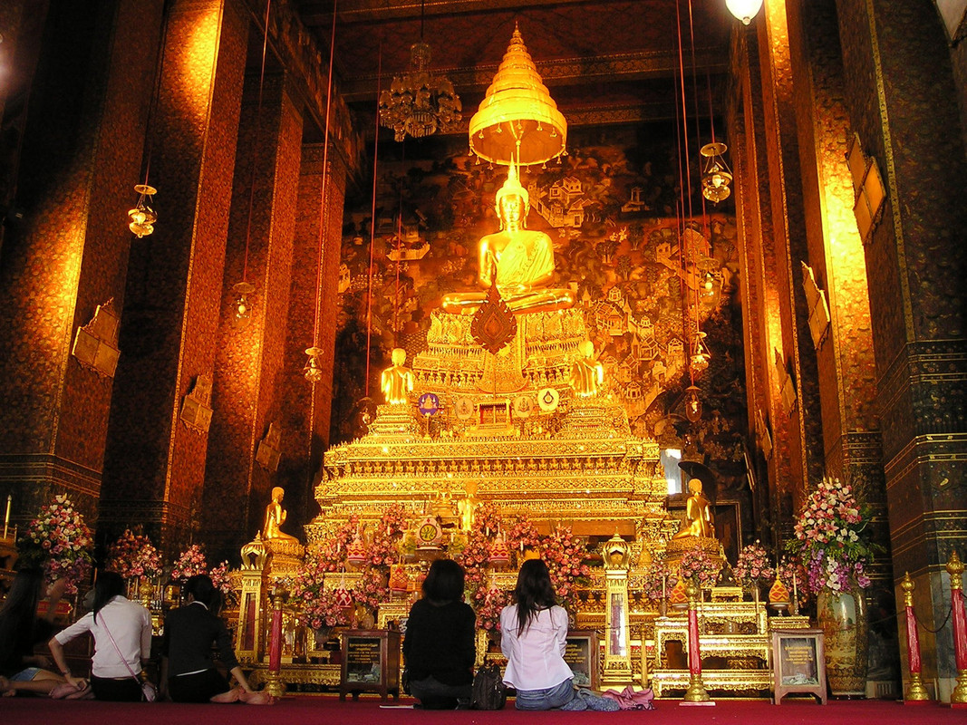
[[(411, 703), (404, 699), (400, 704)], [(431, 711), (380, 708), (378, 698), (340, 703), (336, 696), (301, 696), (272, 707), (245, 705), (123, 705), (95, 701), (64, 702), (27, 697), (0, 699), (0, 723), (16, 725), (943, 725), (967, 723), (967, 710), (939, 704), (904, 706), (883, 700), (830, 702), (806, 700), (775, 706), (766, 701), (720, 700), (714, 708), (681, 707), (659, 701), (654, 711), (517, 712), (513, 701), (501, 711)], [(393, 704), (393, 701), (390, 701)]]

